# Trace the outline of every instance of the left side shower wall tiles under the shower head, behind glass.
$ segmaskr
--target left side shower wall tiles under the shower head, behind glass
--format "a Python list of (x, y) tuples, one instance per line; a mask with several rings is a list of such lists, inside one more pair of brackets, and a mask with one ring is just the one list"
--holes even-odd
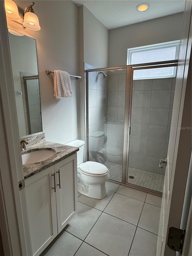
[[(92, 67), (94, 68), (94, 67)], [(103, 71), (105, 73), (105, 71)], [(88, 73), (88, 134), (89, 134), (89, 161), (105, 162), (103, 154), (95, 151), (98, 140), (102, 137), (91, 136), (95, 131), (105, 131), (105, 118), (107, 115), (107, 78), (99, 75), (98, 71)], [(86, 153), (86, 152), (85, 152)]]

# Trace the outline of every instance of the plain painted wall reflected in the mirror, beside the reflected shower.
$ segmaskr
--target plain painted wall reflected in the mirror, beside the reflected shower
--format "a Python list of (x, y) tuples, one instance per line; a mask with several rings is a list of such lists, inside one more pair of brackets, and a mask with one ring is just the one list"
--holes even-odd
[[(15, 93), (22, 92), (20, 71), (38, 74), (35, 40), (27, 36), (16, 36), (9, 33), (11, 65)], [(23, 97), (15, 95), (19, 135), (26, 135), (26, 124)]]

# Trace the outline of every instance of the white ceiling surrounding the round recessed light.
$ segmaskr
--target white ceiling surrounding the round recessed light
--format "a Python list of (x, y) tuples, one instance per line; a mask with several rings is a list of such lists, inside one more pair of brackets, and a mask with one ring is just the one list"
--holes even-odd
[[(131, 25), (184, 11), (184, 0), (73, 0), (85, 7), (108, 29)], [(146, 11), (136, 11), (136, 6), (148, 3)]]

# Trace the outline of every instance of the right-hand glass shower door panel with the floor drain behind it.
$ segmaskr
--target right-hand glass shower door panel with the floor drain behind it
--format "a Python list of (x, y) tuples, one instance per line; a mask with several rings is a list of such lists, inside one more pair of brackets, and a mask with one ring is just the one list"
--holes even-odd
[(159, 163), (167, 158), (175, 68), (132, 68), (126, 184), (163, 191), (165, 166)]

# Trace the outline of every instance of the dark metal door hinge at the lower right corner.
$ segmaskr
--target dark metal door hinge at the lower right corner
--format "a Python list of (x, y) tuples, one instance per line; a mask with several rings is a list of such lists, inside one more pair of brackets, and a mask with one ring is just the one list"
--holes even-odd
[(182, 254), (185, 231), (176, 227), (170, 227), (167, 245), (174, 251), (179, 251)]

